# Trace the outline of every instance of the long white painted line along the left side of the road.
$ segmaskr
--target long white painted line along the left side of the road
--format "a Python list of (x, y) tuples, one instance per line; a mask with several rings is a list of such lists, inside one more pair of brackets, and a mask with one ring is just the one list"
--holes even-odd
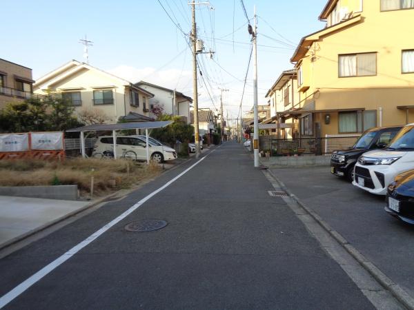
[(135, 203), (135, 205), (133, 205), (132, 207), (130, 207), (123, 214), (121, 214), (120, 216), (118, 216), (114, 220), (111, 220), (110, 223), (108, 223), (105, 226), (101, 227), (101, 229), (95, 231), (95, 233), (93, 233), (88, 238), (86, 238), (85, 240), (83, 240), (82, 242), (80, 242), (78, 245), (75, 245), (75, 247), (72, 247), (72, 249), (70, 249), (69, 251), (67, 251), (65, 254), (63, 254), (59, 258), (57, 258), (57, 259), (53, 260), (52, 262), (50, 262), (49, 265), (47, 265), (46, 267), (43, 267), (41, 270), (37, 271), (37, 273), (34, 273), (34, 275), (30, 276), (30, 278), (27, 278), (26, 280), (24, 280), (23, 282), (21, 282), (19, 285), (17, 285), (17, 287), (14, 287), (14, 289), (12, 289), (8, 293), (6, 293), (6, 295), (1, 296), (1, 298), (0, 298), (0, 309), (3, 308), (4, 306), (6, 306), (6, 304), (8, 304), (9, 302), (11, 302), (12, 300), (14, 300), (14, 298), (17, 298), (17, 296), (19, 296), (21, 293), (23, 293), (24, 291), (26, 291), (26, 289), (28, 289), (32, 285), (34, 285), (34, 283), (36, 283), (37, 281), (41, 280), (41, 278), (43, 278), (44, 276), (48, 275), (48, 273), (50, 273), (51, 271), (53, 271), (54, 269), (56, 269), (57, 267), (59, 267), (61, 264), (63, 264), (63, 262), (66, 262), (66, 260), (68, 260), (69, 258), (71, 258), (72, 256), (74, 256), (75, 254), (77, 254), (77, 252), (79, 252), (81, 249), (83, 249), (83, 247), (86, 247), (87, 245), (89, 245), (90, 242), (92, 242), (93, 240), (95, 240), (96, 238), (98, 238), (99, 236), (101, 236), (101, 234), (103, 234), (105, 231), (107, 231), (112, 226), (114, 226), (117, 223), (119, 223), (121, 220), (124, 220), (124, 218), (126, 218), (129, 214), (131, 214), (133, 211), (135, 211), (136, 209), (138, 209), (139, 207), (141, 207), (141, 205), (143, 205), (144, 203), (146, 203), (146, 201), (148, 199), (152, 198), (153, 196), (155, 196), (159, 192), (161, 192), (163, 189), (165, 189), (166, 187), (170, 186), (176, 180), (178, 180), (179, 178), (181, 178), (181, 176), (184, 176), (184, 174), (186, 174), (191, 169), (193, 169), (193, 167), (195, 167), (196, 165), (198, 165), (199, 163), (201, 163), (201, 161), (203, 161), (204, 158), (206, 158), (208, 155), (210, 155), (213, 152), (215, 152), (215, 150), (216, 149), (214, 149), (212, 152), (208, 153), (203, 158), (200, 158), (199, 161), (197, 161), (197, 163), (195, 163), (194, 165), (188, 167), (188, 169), (184, 170), (184, 172), (181, 172), (181, 174), (179, 174), (175, 178), (172, 178), (172, 180), (168, 181), (165, 185), (159, 187), (159, 189), (157, 189), (155, 192), (152, 192), (151, 194), (149, 194), (145, 198), (142, 198), (141, 200), (139, 200), (137, 203)]

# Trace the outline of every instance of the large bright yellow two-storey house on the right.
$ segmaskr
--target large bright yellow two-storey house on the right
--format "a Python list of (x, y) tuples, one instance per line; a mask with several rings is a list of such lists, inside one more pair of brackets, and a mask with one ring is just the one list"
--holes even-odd
[(290, 59), (298, 103), (278, 115), (305, 137), (414, 122), (414, 1), (329, 0), (319, 19)]

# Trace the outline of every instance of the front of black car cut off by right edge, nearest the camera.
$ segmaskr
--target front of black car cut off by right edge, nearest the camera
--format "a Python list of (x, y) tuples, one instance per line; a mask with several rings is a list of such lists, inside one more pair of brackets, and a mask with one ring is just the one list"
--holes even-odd
[(406, 223), (414, 224), (414, 170), (399, 174), (388, 185), (385, 211)]

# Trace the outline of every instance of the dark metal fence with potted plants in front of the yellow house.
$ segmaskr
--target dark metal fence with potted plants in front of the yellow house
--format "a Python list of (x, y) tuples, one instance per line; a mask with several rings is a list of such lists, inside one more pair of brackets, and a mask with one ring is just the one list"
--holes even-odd
[(352, 147), (358, 136), (326, 136), (324, 138), (278, 139), (259, 136), (259, 149), (273, 154), (331, 154), (335, 149)]

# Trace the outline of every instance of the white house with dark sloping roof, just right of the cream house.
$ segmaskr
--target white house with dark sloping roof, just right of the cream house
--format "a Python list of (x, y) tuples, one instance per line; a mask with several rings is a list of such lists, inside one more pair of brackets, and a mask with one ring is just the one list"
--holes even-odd
[[(135, 83), (135, 86), (154, 94), (150, 99), (150, 108), (159, 105), (163, 107), (164, 114), (184, 116), (186, 123), (190, 123), (190, 104), (193, 103), (191, 97), (184, 95), (182, 92), (177, 92), (177, 90), (170, 90), (144, 81)], [(154, 114), (150, 114), (150, 116), (154, 117)]]

